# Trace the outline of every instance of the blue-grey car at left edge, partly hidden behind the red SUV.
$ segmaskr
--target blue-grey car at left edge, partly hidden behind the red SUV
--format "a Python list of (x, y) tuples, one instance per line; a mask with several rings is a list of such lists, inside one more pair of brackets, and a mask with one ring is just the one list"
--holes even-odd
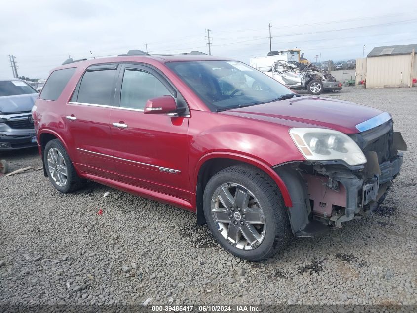
[(0, 151), (37, 146), (31, 113), (37, 98), (25, 81), (0, 79)]

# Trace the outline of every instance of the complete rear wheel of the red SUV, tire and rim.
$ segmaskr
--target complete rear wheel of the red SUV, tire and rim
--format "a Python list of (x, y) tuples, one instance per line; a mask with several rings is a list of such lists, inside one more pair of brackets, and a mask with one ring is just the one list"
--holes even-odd
[(82, 186), (73, 162), (59, 139), (49, 141), (43, 153), (46, 173), (52, 185), (62, 193), (71, 193)]

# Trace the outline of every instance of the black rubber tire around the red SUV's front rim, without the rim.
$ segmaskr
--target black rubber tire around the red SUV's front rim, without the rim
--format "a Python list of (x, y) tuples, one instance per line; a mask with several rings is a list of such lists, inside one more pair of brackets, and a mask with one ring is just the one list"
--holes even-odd
[[(255, 196), (264, 212), (265, 237), (257, 247), (251, 250), (237, 248), (227, 240), (220, 232), (213, 216), (212, 198), (225, 183), (244, 186)], [(249, 261), (262, 261), (273, 256), (282, 250), (292, 237), (287, 208), (277, 185), (263, 171), (252, 166), (231, 166), (216, 173), (205, 187), (203, 208), (207, 225), (216, 240), (233, 255)], [(228, 225), (230, 227), (231, 221)], [(243, 235), (241, 231), (239, 233)]]

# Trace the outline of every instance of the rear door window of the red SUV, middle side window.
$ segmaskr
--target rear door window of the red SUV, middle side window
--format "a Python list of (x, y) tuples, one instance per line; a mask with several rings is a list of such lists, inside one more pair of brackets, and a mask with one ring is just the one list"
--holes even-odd
[(113, 105), (117, 71), (87, 71), (79, 85), (77, 102)]

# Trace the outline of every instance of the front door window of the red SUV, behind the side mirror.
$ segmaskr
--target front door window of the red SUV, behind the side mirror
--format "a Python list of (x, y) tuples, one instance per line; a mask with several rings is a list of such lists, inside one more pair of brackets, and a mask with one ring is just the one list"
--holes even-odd
[(143, 110), (149, 99), (170, 94), (152, 74), (133, 69), (124, 71), (120, 94), (121, 107)]

